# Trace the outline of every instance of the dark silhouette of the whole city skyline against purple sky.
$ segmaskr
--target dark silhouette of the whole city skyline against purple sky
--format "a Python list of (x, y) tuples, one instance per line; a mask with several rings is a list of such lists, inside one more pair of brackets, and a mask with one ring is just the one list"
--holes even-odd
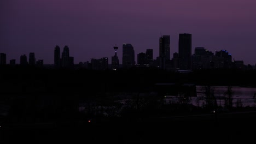
[[(90, 58), (91, 60), (86, 62), (80, 61), (78, 63), (74, 63), (75, 58), (69, 55), (69, 51), (72, 51), (72, 49), (69, 50), (68, 45), (65, 45), (62, 51), (60, 46), (56, 45), (52, 54), (54, 55), (53, 63), (50, 63), (50, 65), (55, 65), (55, 68), (74, 68), (74, 65), (80, 65), (81, 67), (89, 68), (88, 65), (90, 64), (90, 69), (131, 68), (137, 65), (136, 67), (158, 67), (161, 69), (171, 68), (173, 70), (195, 70), (209, 68), (252, 69), (255, 67), (255, 65), (251, 64), (246, 65), (243, 62), (243, 59), (239, 61), (235, 60), (229, 51), (223, 49), (212, 52), (205, 49), (205, 47), (195, 47), (195, 50), (192, 52), (192, 38), (192, 34), (180, 33), (178, 47), (179, 53), (175, 52), (171, 54), (170, 35), (161, 35), (161, 37), (159, 37), (159, 54), (156, 59), (153, 58), (154, 49), (147, 49), (144, 52), (136, 53), (136, 50), (132, 44), (124, 43), (122, 49), (123, 53), (119, 55), (117, 54), (117, 44), (113, 46), (114, 56), (112, 55), (111, 59), (108, 58), (109, 56), (104, 56), (101, 58)], [(170, 55), (172, 55), (172, 57)], [(8, 63), (6, 53), (1, 52), (0, 57), (1, 65), (45, 65), (44, 59), (37, 59), (34, 52), (30, 52), (29, 57), (27, 57), (26, 54), (21, 55), (20, 63), (16, 61), (16, 59), (10, 59)]]

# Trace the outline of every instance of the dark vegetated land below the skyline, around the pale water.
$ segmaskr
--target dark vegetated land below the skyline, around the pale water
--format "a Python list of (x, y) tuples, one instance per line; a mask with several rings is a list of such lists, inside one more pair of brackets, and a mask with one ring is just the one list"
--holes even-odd
[[(181, 87), (256, 87), (255, 70), (17, 66), (0, 67), (0, 73), (0, 143), (255, 142), (255, 107), (227, 104), (229, 113), (210, 113), (217, 105), (191, 105), (193, 92)], [(167, 87), (173, 93), (156, 83), (173, 83)], [(166, 94), (181, 100), (166, 104)]]

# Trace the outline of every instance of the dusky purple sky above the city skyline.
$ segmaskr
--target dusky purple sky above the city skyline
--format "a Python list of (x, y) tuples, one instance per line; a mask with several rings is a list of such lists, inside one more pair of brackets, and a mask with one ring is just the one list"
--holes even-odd
[(170, 35), (170, 55), (178, 52), (179, 33), (192, 34), (195, 47), (227, 50), (235, 60), (256, 63), (255, 0), (1, 0), (0, 52), (7, 63), (35, 52), (54, 63), (54, 47), (68, 45), (74, 63), (111, 57), (113, 46), (130, 43), (137, 54), (154, 49)]

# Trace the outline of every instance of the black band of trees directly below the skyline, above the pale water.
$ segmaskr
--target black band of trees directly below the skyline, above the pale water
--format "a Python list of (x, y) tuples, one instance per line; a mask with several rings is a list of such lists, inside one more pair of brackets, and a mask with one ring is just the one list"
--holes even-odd
[(155, 83), (256, 87), (256, 70), (204, 69), (191, 73), (158, 68), (119, 70), (0, 67), (1, 92), (152, 91)]

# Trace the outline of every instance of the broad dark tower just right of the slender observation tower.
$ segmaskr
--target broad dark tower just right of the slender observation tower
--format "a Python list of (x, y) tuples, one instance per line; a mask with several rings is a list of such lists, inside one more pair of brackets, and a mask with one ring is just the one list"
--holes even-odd
[(123, 68), (135, 65), (135, 52), (131, 44), (123, 44)]

